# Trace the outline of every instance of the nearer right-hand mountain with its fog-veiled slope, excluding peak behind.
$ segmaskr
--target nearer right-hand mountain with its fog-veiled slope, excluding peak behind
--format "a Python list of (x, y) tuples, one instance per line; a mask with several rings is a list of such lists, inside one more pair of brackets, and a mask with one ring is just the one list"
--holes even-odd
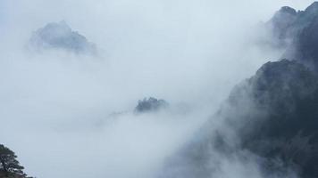
[(286, 176), (289, 169), (303, 178), (317, 177), (317, 103), (314, 72), (297, 61), (268, 62), (232, 90), (213, 117), (224, 120), (222, 127), (213, 130), (206, 123), (193, 142), (168, 161), (162, 177), (213, 177), (220, 157), (244, 150), (259, 157), (264, 177)]

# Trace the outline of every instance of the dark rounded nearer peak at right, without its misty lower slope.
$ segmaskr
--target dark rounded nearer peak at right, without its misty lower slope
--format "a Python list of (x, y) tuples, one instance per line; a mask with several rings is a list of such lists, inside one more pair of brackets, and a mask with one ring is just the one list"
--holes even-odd
[(265, 158), (264, 169), (277, 169), (279, 158), (311, 178), (318, 176), (317, 103), (318, 77), (310, 69), (296, 61), (269, 62), (233, 90), (221, 115), (243, 149)]

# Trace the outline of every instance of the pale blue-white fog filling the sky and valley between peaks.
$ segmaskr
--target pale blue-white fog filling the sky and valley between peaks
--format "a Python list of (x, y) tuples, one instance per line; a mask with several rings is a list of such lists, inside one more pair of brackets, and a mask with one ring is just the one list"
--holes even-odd
[[(281, 50), (255, 44), (257, 24), (280, 6), (311, 3), (2, 0), (0, 143), (36, 177), (155, 177), (233, 85), (280, 58)], [(26, 47), (34, 31), (61, 20), (97, 55)], [(171, 109), (136, 115), (150, 96)]]

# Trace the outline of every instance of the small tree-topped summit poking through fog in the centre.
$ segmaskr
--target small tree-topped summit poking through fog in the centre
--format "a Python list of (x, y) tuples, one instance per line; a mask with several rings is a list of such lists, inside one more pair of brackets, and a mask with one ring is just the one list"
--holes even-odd
[(150, 97), (148, 99), (145, 98), (142, 101), (138, 101), (138, 105), (135, 108), (135, 111), (138, 113), (153, 112), (160, 109), (166, 109), (168, 105), (168, 102), (164, 100), (157, 100)]

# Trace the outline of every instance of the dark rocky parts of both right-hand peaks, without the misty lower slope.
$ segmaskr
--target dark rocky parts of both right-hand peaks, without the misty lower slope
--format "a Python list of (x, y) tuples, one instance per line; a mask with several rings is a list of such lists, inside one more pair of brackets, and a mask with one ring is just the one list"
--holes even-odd
[(292, 38), (284, 56), (294, 61), (266, 63), (220, 114), (265, 170), (280, 169), (279, 158), (300, 177), (318, 177), (318, 3), (303, 12), (284, 7), (271, 21), (279, 40)]

